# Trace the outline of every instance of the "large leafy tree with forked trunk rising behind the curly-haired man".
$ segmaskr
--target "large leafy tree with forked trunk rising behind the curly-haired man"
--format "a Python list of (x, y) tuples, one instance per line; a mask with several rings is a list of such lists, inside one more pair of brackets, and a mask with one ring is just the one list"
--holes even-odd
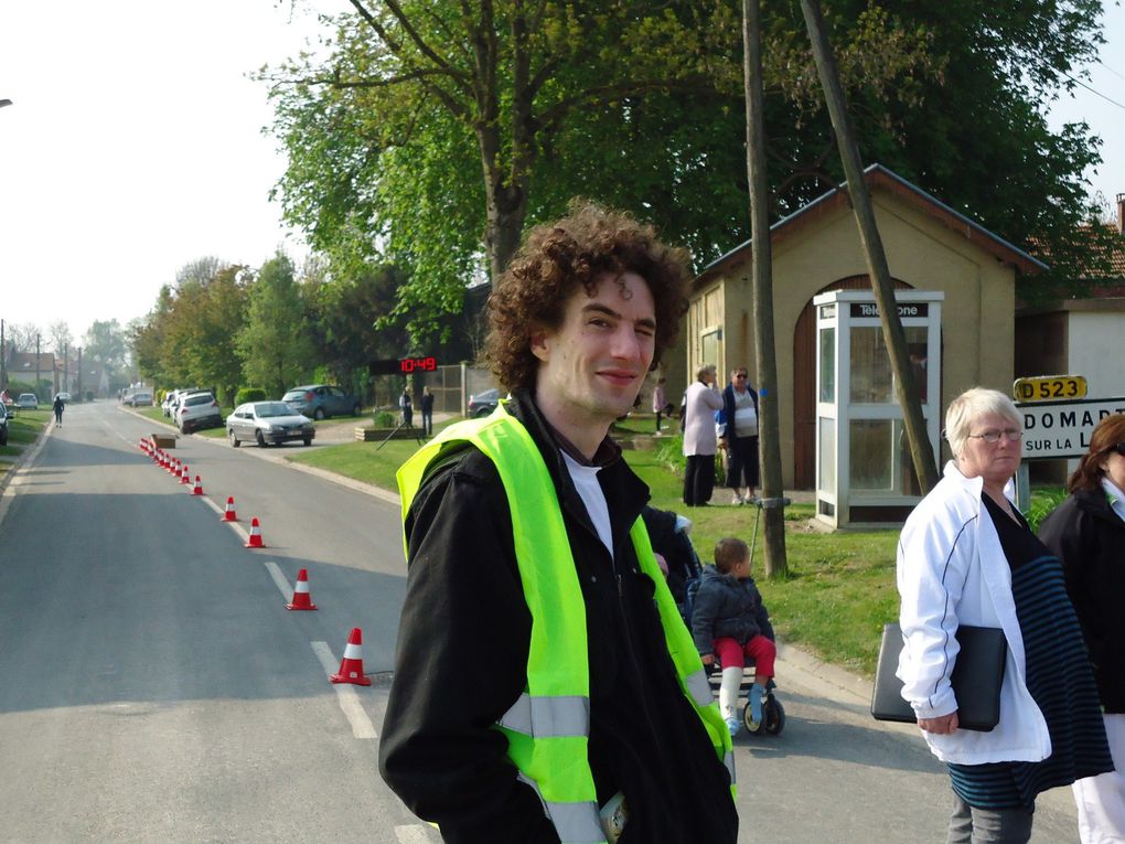
[[(460, 306), (469, 278), (496, 280), (525, 222), (577, 194), (701, 259), (745, 237), (734, 0), (352, 6), (326, 60), (263, 73), (290, 156), (277, 194), (334, 270), (376, 258), (410, 270), (396, 315), (421, 312), (415, 336)], [(881, 79), (924, 54), (921, 36), (856, 34)], [(774, 70), (790, 87), (803, 72)]]

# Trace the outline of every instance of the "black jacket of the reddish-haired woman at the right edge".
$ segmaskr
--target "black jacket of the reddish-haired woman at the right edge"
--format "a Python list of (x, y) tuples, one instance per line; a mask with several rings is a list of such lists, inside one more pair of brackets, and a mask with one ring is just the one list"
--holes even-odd
[(1107, 712), (1125, 712), (1125, 522), (1106, 494), (1080, 490), (1043, 520), (1040, 539), (1062, 560)]

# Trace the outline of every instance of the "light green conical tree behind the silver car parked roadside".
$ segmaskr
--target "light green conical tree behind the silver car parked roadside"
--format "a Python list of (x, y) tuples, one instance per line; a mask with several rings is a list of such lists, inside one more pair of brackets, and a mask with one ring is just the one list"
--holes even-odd
[(312, 370), (315, 349), (292, 262), (278, 253), (262, 264), (250, 288), (246, 324), (235, 339), (249, 384), (280, 397)]

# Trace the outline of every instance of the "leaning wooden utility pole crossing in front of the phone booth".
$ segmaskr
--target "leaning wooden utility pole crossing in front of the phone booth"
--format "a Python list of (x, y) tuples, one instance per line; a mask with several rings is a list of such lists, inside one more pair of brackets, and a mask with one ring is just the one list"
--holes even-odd
[(894, 300), (894, 288), (891, 285), (891, 270), (886, 264), (886, 253), (883, 241), (879, 236), (875, 224), (875, 212), (871, 205), (871, 194), (863, 180), (863, 164), (860, 160), (860, 147), (847, 116), (847, 104), (844, 99), (844, 88), (840, 84), (839, 69), (836, 56), (828, 43), (825, 16), (820, 9), (820, 0), (801, 0), (801, 12), (804, 26), (809, 30), (812, 43), (812, 57), (817, 63), (817, 74), (820, 87), (825, 91), (825, 101), (836, 132), (836, 145), (839, 149), (840, 161), (844, 164), (844, 176), (847, 179), (847, 192), (855, 212), (856, 224), (860, 227), (860, 240), (867, 257), (867, 272), (871, 276), (871, 287), (879, 305), (879, 321), (883, 329), (883, 342), (891, 358), (891, 371), (894, 374), (896, 393), (899, 407), (902, 408), (902, 421), (906, 424), (907, 438), (910, 442), (910, 457), (915, 474), (921, 485), (922, 495), (937, 485), (937, 463), (934, 450), (926, 434), (926, 419), (921, 412), (921, 401), (915, 386), (914, 371), (907, 353), (906, 332), (902, 331), (902, 320)]

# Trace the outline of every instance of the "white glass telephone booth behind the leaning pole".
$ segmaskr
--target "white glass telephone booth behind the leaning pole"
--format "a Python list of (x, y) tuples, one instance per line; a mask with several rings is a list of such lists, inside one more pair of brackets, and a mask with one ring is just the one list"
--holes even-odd
[[(926, 433), (938, 454), (943, 293), (896, 290)], [(921, 500), (875, 297), (834, 290), (817, 311), (817, 519), (902, 521)]]

